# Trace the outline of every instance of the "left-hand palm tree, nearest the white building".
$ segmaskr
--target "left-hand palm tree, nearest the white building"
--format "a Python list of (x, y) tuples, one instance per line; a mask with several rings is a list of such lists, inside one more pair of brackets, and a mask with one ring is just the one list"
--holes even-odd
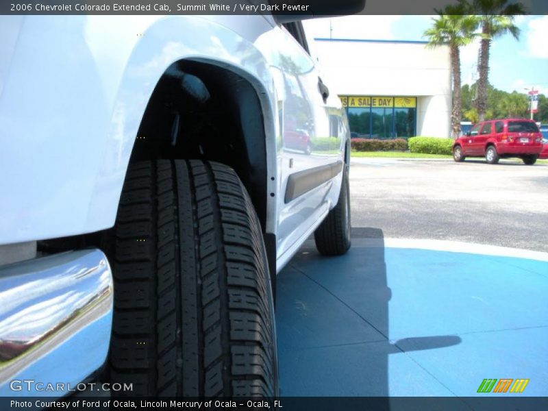
[(445, 10), (438, 11), (438, 17), (432, 19), (434, 24), (423, 36), (428, 38), (428, 47), (449, 45), (451, 71), (453, 72), (453, 108), (451, 110), (451, 134), (454, 138), (460, 136), (460, 121), (462, 118), (460, 99), (460, 47), (472, 42), (477, 27), (477, 18), (464, 15), (458, 5), (448, 5)]

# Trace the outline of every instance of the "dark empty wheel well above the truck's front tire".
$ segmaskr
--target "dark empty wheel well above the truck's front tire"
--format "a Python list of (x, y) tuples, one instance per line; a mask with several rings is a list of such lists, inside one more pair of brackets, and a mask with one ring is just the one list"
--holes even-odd
[(160, 158), (231, 166), (264, 232), (266, 136), (260, 99), (247, 79), (206, 62), (171, 64), (149, 99), (129, 161)]

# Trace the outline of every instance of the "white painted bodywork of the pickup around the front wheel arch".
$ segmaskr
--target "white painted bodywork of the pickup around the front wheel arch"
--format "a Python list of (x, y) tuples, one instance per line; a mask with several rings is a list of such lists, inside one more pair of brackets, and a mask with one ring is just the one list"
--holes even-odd
[[(179, 60), (238, 73), (257, 92), (279, 262), (334, 207), (341, 174), (284, 201), (289, 175), (344, 160), (348, 133), (336, 94), (323, 101), (314, 60), (270, 16), (1, 19), (0, 245), (112, 227), (149, 98)], [(310, 152), (295, 147), (295, 130)]]

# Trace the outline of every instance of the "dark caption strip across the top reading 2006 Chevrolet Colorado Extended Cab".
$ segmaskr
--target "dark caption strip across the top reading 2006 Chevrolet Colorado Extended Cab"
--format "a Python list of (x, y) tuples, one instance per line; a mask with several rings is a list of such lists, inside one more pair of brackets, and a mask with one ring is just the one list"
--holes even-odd
[[(456, 3), (457, 0), (2, 0), (0, 14), (279, 14), (311, 18), (346, 14), (429, 15)], [(548, 14), (547, 0), (521, 3), (527, 14)]]

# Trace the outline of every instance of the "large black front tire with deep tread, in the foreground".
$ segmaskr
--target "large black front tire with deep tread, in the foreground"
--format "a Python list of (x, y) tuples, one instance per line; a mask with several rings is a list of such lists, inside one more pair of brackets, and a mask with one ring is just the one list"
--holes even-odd
[(232, 169), (132, 164), (110, 243), (110, 382), (133, 383), (115, 395), (277, 395), (269, 266)]

